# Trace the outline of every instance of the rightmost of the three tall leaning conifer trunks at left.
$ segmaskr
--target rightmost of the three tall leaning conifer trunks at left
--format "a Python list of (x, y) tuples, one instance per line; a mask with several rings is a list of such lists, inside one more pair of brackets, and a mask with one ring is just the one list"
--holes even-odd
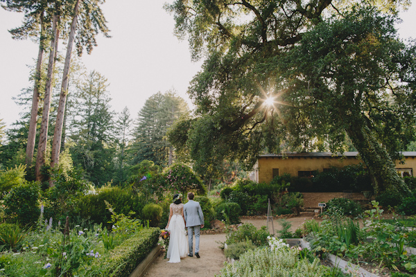
[(64, 125), (65, 104), (67, 102), (68, 80), (69, 80), (69, 66), (71, 65), (71, 54), (73, 41), (75, 39), (76, 21), (78, 19), (78, 6), (80, 0), (77, 0), (73, 8), (73, 18), (71, 23), (71, 31), (69, 33), (67, 56), (65, 57), (64, 72), (62, 76), (61, 93), (58, 106), (58, 114), (56, 115), (55, 131), (53, 132), (53, 143), (51, 153), (51, 168), (58, 165), (60, 146), (62, 139), (62, 127)]

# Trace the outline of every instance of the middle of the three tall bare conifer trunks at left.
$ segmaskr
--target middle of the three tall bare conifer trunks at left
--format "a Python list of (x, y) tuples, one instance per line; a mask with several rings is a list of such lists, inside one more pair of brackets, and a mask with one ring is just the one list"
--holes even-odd
[(49, 64), (48, 64), (48, 75), (46, 77), (45, 85), (45, 95), (44, 95), (44, 109), (42, 112), (42, 123), (40, 124), (40, 138), (37, 145), (37, 157), (36, 157), (36, 167), (35, 167), (35, 177), (36, 181), (42, 180), (42, 175), (40, 170), (45, 163), (45, 152), (46, 144), (48, 142), (48, 125), (49, 125), (49, 109), (51, 108), (51, 96), (52, 96), (52, 79), (53, 79), (53, 69), (55, 66), (56, 55), (58, 53), (58, 39), (59, 39), (59, 29), (58, 24), (58, 15), (53, 15), (52, 23), (52, 33), (53, 37), (51, 39), (51, 51), (49, 53)]

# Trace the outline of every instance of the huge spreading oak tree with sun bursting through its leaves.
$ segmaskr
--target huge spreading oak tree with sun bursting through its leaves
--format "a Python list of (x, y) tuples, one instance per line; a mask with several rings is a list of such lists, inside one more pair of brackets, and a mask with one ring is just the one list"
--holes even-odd
[(206, 55), (189, 88), (197, 117), (171, 134), (196, 163), (250, 168), (261, 152), (343, 152), (351, 141), (377, 191), (406, 190), (393, 161), (414, 137), (415, 43), (397, 38), (395, 17), (327, 0), (166, 8), (193, 58)]

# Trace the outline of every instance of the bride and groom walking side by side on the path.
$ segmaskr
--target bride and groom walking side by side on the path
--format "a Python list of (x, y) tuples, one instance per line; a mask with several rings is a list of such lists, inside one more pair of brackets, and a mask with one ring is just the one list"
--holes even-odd
[[(187, 204), (182, 204), (182, 195), (173, 196), (166, 229), (171, 233), (166, 258), (168, 262), (180, 262), (180, 258), (193, 257), (193, 234), (195, 234), (195, 256), (199, 255), (200, 229), (204, 227), (204, 215), (198, 202), (193, 201), (193, 193), (188, 193)], [(185, 232), (185, 227), (188, 231)], [(189, 245), (189, 251), (188, 251)]]

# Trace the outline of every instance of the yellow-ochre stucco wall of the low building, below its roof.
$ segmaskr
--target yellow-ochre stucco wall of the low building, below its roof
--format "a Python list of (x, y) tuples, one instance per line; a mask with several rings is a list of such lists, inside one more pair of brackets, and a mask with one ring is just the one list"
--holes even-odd
[[(254, 166), (256, 179), (259, 183), (270, 183), (273, 179), (273, 168), (279, 169), (279, 176), (289, 173), (292, 176), (298, 176), (298, 171), (322, 172), (324, 168), (333, 166), (342, 168), (344, 166), (358, 164), (361, 160), (356, 157), (260, 157)], [(404, 164), (397, 163), (396, 169), (401, 175), (403, 172), (410, 172), (410, 176), (415, 176), (416, 157), (406, 157)]]

